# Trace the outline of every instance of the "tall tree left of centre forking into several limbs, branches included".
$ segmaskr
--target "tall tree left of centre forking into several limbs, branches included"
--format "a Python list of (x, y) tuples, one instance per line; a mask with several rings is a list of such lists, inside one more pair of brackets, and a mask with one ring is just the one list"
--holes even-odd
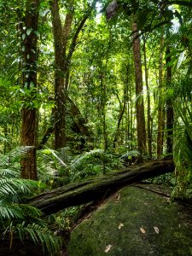
[[(95, 4), (96, 1), (94, 1), (93, 6)], [(92, 8), (86, 9), (83, 17), (79, 20), (72, 40), (69, 40), (69, 36), (73, 25), (73, 0), (67, 1), (67, 15), (64, 25), (61, 22), (59, 1), (50, 1), (50, 9), (55, 45), (55, 148), (63, 148), (66, 145), (66, 101), (70, 63), (79, 32), (89, 18)]]

